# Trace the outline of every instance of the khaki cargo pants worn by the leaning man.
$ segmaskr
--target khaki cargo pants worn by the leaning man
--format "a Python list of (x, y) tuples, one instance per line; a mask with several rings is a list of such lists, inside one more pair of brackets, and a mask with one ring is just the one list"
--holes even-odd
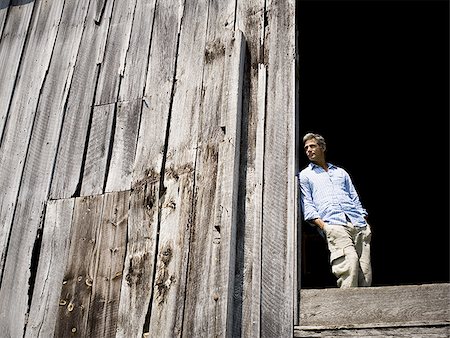
[(369, 224), (365, 227), (354, 227), (350, 222), (347, 225), (327, 224), (324, 230), (330, 250), (331, 271), (337, 277), (337, 286), (370, 286), (372, 233)]

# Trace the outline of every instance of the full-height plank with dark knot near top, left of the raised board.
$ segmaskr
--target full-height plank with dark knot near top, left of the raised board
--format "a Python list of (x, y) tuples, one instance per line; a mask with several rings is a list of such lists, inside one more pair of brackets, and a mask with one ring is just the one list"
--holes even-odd
[[(195, 240), (191, 241), (189, 251), (183, 331), (192, 336), (221, 337), (226, 333), (226, 327), (221, 325), (227, 323), (226, 316), (222, 316), (222, 309), (226, 310), (228, 305), (225, 291), (228, 280), (225, 280), (225, 285), (217, 285), (222, 277), (217, 270), (223, 268), (228, 271), (229, 266), (228, 261), (220, 260), (219, 246), (226, 246), (227, 238), (221, 238), (221, 226), (225, 227), (225, 224), (221, 224), (214, 209), (218, 185), (221, 184), (218, 179), (220, 161), (232, 161), (230, 158), (219, 158), (219, 148), (225, 138), (225, 131), (226, 137), (228, 132), (232, 133), (226, 129), (232, 126), (226, 125), (225, 118), (222, 124), (221, 115), (225, 114), (222, 110), (226, 110), (222, 107), (225, 105), (223, 101), (226, 102), (224, 87), (229, 71), (225, 68), (225, 60), (231, 40), (234, 4), (230, 1), (210, 1), (208, 5), (203, 94), (196, 136), (195, 222), (191, 230)], [(226, 232), (225, 229), (223, 231)]]

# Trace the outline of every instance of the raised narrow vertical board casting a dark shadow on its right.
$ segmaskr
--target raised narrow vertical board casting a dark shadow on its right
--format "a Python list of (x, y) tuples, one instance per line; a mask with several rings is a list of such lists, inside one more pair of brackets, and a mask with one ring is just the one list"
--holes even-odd
[[(225, 54), (225, 85), (221, 126), (226, 134), (219, 146), (215, 227), (219, 226), (220, 246), (213, 281), (219, 295), (215, 311), (215, 336), (233, 336), (233, 297), (236, 260), (237, 206), (239, 190), (239, 160), (241, 140), (242, 88), (245, 60), (245, 39), (237, 30)], [(223, 128), (222, 127), (222, 128)]]

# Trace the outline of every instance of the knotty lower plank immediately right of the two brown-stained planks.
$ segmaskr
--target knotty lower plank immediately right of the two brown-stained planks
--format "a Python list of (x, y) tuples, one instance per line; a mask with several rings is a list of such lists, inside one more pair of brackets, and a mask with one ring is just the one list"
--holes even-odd
[[(153, 181), (153, 179), (156, 179)], [(153, 293), (159, 178), (148, 177), (131, 192), (128, 242), (116, 337), (142, 337)]]

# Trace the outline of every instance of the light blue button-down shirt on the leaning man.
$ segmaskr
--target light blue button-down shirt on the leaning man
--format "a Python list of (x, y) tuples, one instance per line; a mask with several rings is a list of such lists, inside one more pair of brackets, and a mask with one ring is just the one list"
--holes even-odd
[(321, 218), (327, 224), (365, 226), (367, 211), (361, 205), (358, 193), (344, 169), (328, 163), (328, 171), (310, 163), (299, 174), (300, 203), (303, 218), (311, 221)]

